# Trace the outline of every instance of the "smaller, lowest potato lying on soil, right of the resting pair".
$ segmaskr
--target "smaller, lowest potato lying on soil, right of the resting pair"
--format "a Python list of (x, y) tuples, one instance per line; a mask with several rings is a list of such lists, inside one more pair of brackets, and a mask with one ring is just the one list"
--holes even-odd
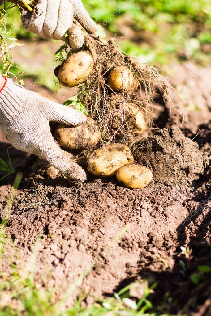
[(131, 164), (118, 169), (117, 180), (129, 189), (142, 189), (152, 180), (152, 171), (142, 165)]

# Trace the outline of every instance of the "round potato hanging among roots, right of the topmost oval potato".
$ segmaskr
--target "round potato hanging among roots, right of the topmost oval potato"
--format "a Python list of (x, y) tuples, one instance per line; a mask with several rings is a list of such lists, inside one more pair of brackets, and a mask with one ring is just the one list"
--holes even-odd
[(126, 66), (117, 66), (113, 68), (108, 75), (107, 84), (113, 91), (124, 90), (128, 92), (135, 90), (138, 82), (133, 76), (133, 72)]

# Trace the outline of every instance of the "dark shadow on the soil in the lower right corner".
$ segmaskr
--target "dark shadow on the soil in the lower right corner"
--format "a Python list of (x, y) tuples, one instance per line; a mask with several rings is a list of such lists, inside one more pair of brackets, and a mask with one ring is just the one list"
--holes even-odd
[[(208, 265), (211, 262), (211, 210), (199, 224), (198, 217), (207, 209), (208, 202), (211, 201), (211, 163), (205, 169), (204, 175), (194, 184), (192, 192), (195, 196), (192, 200), (199, 203), (199, 207), (191, 212), (190, 216), (184, 218), (184, 221), (177, 227), (177, 249), (174, 255), (175, 264), (172, 271), (154, 271), (145, 266), (139, 270), (138, 275), (141, 278), (149, 278), (157, 281), (158, 286), (151, 295), (150, 300), (160, 309), (169, 313), (186, 313), (193, 316), (211, 315), (211, 275), (200, 272), (198, 266)], [(202, 188), (200, 190), (200, 188)], [(190, 226), (190, 227), (189, 227)], [(191, 237), (187, 240), (186, 229), (192, 231)], [(178, 257), (181, 252), (181, 246), (188, 245), (191, 253)], [(185, 262), (184, 270), (181, 269), (180, 261)], [(193, 283), (190, 276), (196, 273), (196, 283)], [(134, 282), (137, 276), (125, 278), (115, 292), (118, 292), (124, 286)], [(198, 282), (197, 282), (198, 279)], [(106, 294), (110, 296), (110, 294)], [(164, 301), (160, 301), (165, 298)], [(199, 310), (199, 312), (198, 312)], [(194, 313), (197, 311), (198, 313)]]

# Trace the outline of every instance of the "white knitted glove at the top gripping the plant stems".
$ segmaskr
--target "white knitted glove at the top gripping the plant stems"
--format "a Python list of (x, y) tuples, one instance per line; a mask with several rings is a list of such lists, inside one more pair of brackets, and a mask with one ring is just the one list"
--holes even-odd
[[(73, 17), (89, 33), (95, 33), (99, 27), (91, 19), (81, 0), (38, 0), (36, 8), (33, 12), (22, 12), (22, 24), (28, 32), (43, 38), (65, 40), (65, 33), (72, 27)], [(77, 36), (83, 37), (83, 32)]]

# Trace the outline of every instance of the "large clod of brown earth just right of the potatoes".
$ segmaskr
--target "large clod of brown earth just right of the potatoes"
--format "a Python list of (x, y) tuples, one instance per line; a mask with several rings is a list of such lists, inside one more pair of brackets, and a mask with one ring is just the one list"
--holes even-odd
[(158, 180), (198, 179), (206, 167), (198, 144), (177, 127), (163, 129), (137, 146), (133, 151), (135, 160), (153, 170)]

